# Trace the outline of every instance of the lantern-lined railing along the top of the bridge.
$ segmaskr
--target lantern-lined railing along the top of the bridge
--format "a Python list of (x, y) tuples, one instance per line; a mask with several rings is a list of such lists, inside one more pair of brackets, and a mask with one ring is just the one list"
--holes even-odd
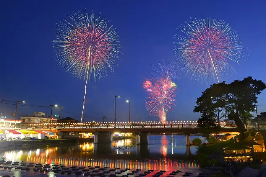
[[(197, 123), (180, 124), (50, 124), (50, 125), (28, 125), (26, 129), (73, 129), (73, 128), (199, 128)], [(221, 128), (237, 128), (235, 124), (220, 124)]]

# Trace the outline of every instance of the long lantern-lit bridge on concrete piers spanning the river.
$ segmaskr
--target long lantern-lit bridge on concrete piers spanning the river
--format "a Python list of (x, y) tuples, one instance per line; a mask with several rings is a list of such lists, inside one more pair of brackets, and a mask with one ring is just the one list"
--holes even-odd
[[(57, 130), (61, 138), (74, 138), (80, 132), (90, 132), (94, 135), (94, 143), (111, 142), (114, 132), (131, 132), (137, 136), (137, 144), (148, 142), (148, 135), (177, 134), (186, 136), (186, 145), (189, 145), (191, 134), (201, 134), (197, 121), (171, 121), (171, 122), (84, 122), (84, 123), (55, 123), (30, 124), (21, 130)], [(207, 129), (204, 133), (236, 133), (239, 132), (235, 124), (220, 122), (217, 129)]]

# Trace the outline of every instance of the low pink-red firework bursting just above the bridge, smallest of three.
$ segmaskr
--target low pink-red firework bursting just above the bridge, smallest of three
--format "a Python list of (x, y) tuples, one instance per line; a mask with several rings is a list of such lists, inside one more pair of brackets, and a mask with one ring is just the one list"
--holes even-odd
[(176, 101), (174, 97), (177, 85), (172, 82), (172, 78), (177, 78), (177, 67), (176, 61), (168, 61), (167, 64), (163, 62), (163, 65), (158, 62), (158, 67), (152, 65), (154, 71), (150, 73), (153, 76), (153, 83), (145, 81), (142, 84), (149, 95), (145, 104), (147, 110), (150, 111), (150, 115), (159, 117), (161, 122), (166, 121), (167, 112), (173, 111), (171, 106), (175, 105), (173, 102)]

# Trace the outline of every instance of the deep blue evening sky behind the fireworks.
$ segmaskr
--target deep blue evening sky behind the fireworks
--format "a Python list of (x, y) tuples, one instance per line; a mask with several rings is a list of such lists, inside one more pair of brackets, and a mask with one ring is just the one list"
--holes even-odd
[[(0, 99), (25, 100), (27, 104), (63, 106), (64, 111), (81, 114), (85, 82), (66, 73), (54, 62), (52, 41), (56, 23), (68, 19), (70, 11), (101, 13), (119, 32), (121, 62), (114, 74), (102, 81), (90, 81), (85, 104), (85, 120), (102, 120), (102, 116), (128, 120), (131, 101), (132, 120), (157, 119), (145, 109), (146, 91), (142, 82), (150, 64), (173, 58), (173, 36), (186, 19), (215, 18), (230, 23), (249, 49), (244, 66), (234, 66), (227, 83), (252, 76), (266, 82), (265, 74), (265, 1), (1, 1), (1, 77)], [(209, 85), (195, 83), (182, 74), (174, 112), (168, 120), (196, 120), (196, 98)], [(258, 97), (258, 112), (266, 111), (266, 91)], [(11, 118), (14, 105), (0, 104), (0, 112)], [(46, 112), (48, 108), (19, 106), (17, 114)], [(58, 114), (58, 111), (53, 112)], [(62, 116), (77, 115), (62, 113)], [(112, 119), (108, 119), (111, 121)]]

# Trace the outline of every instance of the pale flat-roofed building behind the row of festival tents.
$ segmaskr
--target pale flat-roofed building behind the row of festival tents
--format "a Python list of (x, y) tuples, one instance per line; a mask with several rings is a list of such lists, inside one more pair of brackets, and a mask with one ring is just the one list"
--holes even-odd
[(55, 124), (57, 123), (57, 119), (53, 118), (51, 119), (50, 116), (45, 116), (44, 112), (34, 112), (34, 115), (30, 116), (22, 116), (20, 117), (21, 123), (20, 128), (26, 129), (29, 127), (29, 125), (34, 124)]

